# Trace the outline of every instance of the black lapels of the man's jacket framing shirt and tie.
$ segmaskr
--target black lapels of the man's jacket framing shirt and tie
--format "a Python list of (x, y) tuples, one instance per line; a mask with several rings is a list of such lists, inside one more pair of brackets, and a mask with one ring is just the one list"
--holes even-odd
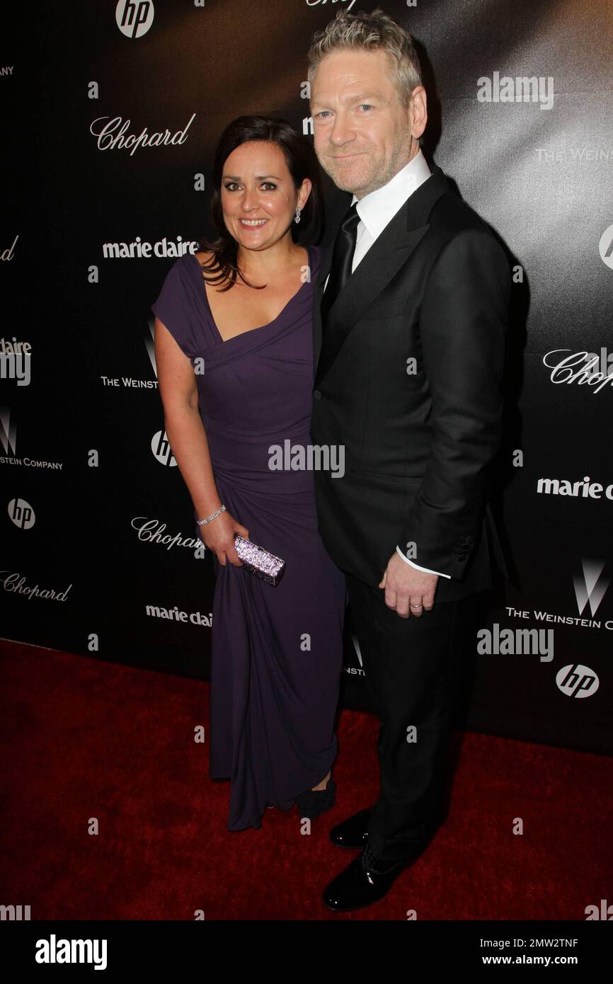
[(321, 300), (332, 264), (332, 250), (322, 263), (314, 289), (315, 386), (330, 370), (345, 339), (375, 297), (396, 276), (428, 230), (428, 216), (436, 201), (449, 190), (440, 167), (417, 188), (369, 248), (340, 290), (323, 323)]

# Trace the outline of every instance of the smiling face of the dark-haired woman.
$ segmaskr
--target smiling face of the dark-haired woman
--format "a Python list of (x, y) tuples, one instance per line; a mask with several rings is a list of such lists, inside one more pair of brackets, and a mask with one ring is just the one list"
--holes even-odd
[(296, 207), (311, 191), (305, 178), (296, 193), (281, 149), (270, 141), (248, 141), (226, 158), (221, 176), (225, 226), (244, 249), (274, 245), (291, 226)]

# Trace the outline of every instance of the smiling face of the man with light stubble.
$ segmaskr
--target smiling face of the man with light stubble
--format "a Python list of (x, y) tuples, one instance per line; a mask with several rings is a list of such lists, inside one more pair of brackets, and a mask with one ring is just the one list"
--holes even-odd
[(358, 199), (387, 184), (419, 149), (425, 92), (413, 90), (411, 105), (402, 106), (384, 51), (327, 55), (311, 84), (310, 105), (322, 167)]

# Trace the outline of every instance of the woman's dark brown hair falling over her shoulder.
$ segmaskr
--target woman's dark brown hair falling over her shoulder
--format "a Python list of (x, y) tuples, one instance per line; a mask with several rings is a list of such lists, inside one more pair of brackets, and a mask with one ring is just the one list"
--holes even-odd
[[(222, 290), (229, 290), (236, 282), (237, 276), (248, 283), (237, 267), (238, 243), (230, 235), (223, 221), (221, 209), (223, 165), (237, 147), (247, 141), (255, 140), (276, 144), (282, 151), (296, 191), (305, 178), (311, 181), (311, 192), (300, 213), (300, 224), (294, 221), (291, 223), (292, 239), (313, 242), (322, 229), (322, 189), (319, 162), (313, 145), (301, 134), (296, 133), (287, 120), (274, 119), (271, 116), (237, 116), (219, 137), (213, 161), (214, 190), (211, 196), (211, 216), (218, 236), (215, 240), (207, 238), (198, 240), (201, 250), (214, 254), (210, 264), (201, 264), (203, 276), (208, 283), (222, 283), (227, 280), (228, 283)], [(214, 277), (205, 276), (213, 271), (216, 271)], [(255, 287), (257, 284), (248, 283), (248, 286)]]

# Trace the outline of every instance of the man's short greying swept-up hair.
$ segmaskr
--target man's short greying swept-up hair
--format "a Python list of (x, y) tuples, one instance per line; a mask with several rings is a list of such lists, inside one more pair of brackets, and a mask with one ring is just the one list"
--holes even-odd
[(423, 85), (421, 66), (413, 40), (396, 21), (377, 7), (372, 14), (349, 14), (339, 10), (322, 31), (315, 31), (307, 55), (307, 80), (313, 82), (318, 65), (333, 51), (385, 51), (390, 59), (403, 106), (410, 102), (415, 86)]

